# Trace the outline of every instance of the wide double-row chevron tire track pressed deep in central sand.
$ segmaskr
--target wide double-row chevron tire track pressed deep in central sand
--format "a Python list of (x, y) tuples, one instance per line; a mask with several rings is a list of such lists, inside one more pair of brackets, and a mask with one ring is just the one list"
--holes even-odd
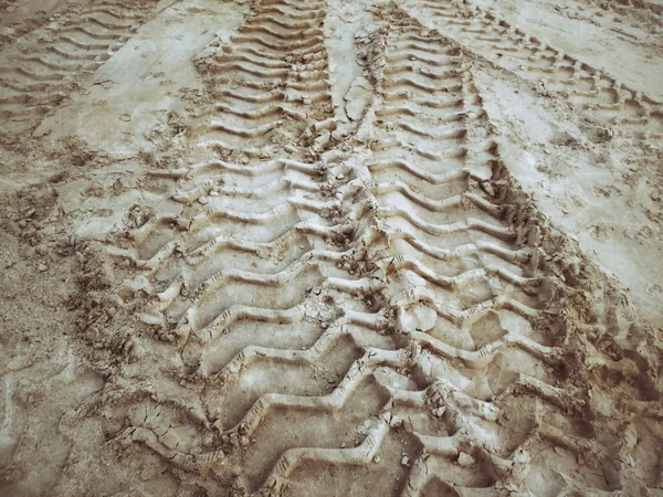
[(622, 378), (609, 410), (659, 415), (645, 360), (597, 350), (571, 298), (591, 269), (506, 171), (464, 46), (383, 6), (370, 138), (340, 147), (325, 10), (259, 2), (202, 65), (214, 102), (148, 173), (161, 203), (106, 247), (134, 267), (145, 368), (86, 412), (211, 493), (329, 495), (358, 472), (349, 495), (660, 485), (629, 463), (646, 426), (601, 404)]

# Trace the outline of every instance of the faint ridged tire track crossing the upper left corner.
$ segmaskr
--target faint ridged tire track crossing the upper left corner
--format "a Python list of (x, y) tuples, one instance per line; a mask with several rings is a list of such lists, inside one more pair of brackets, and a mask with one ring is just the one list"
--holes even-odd
[(155, 4), (92, 2), (17, 41), (0, 61), (0, 116), (12, 129), (36, 127), (149, 19)]

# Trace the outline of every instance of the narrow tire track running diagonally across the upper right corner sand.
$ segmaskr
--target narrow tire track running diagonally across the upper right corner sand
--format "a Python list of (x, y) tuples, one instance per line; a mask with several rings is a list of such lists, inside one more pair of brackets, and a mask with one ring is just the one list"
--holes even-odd
[(602, 71), (466, 2), (423, 2), (429, 24), (443, 29), (465, 50), (538, 83), (544, 93), (568, 95), (588, 116), (617, 125), (627, 134), (663, 138), (661, 104)]

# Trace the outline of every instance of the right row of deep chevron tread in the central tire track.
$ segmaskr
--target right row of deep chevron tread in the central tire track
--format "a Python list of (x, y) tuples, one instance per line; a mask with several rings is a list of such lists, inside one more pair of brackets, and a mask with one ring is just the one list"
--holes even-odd
[[(581, 401), (565, 398), (548, 373), (536, 378), (539, 367), (534, 364), (545, 364), (540, 371), (555, 368), (564, 353), (559, 337), (541, 334), (546, 279), (533, 277), (539, 268), (532, 257), (540, 242), (536, 235), (529, 239), (538, 228), (520, 226), (526, 234), (518, 233), (504, 223), (503, 207), (493, 203), (499, 159), (486, 134), (471, 62), (412, 20), (396, 27), (402, 17), (396, 10), (389, 31), (371, 41), (385, 47), (385, 68), (382, 102), (375, 112), (379, 145), (365, 162), (365, 176), (375, 184), (373, 212), (387, 239), (378, 253), (386, 255), (383, 298), (397, 318), (392, 336), (414, 351), (410, 368), (417, 391), (391, 393), (404, 406), (427, 410), (438, 420), (434, 430), (425, 422), (404, 426), (421, 451), (403, 495), (422, 495), (433, 475), (453, 488), (495, 491), (507, 482), (520, 484), (532, 468), (529, 436), (502, 431), (498, 403), (473, 396), (475, 385), (463, 388), (454, 379), (482, 370), (487, 378), (499, 378), (491, 382), (494, 399), (533, 385), (535, 398), (561, 409)], [(406, 60), (412, 63), (402, 64)], [(439, 86), (423, 84), (423, 78)], [(498, 374), (491, 374), (494, 368)], [(407, 410), (393, 411), (397, 419), (412, 419)], [(459, 470), (463, 465), (472, 469)]]

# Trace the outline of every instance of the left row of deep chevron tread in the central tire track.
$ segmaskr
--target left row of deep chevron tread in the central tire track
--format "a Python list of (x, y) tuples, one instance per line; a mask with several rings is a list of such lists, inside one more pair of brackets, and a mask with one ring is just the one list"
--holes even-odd
[[(246, 70), (257, 56), (261, 61), (273, 61), (267, 70), (275, 71), (274, 77), (283, 78), (286, 89), (291, 89), (291, 71), (282, 71), (281, 63), (276, 62), (283, 59), (282, 49), (270, 52), (276, 51), (272, 38), (291, 36), (283, 30), (276, 36), (272, 28), (286, 22), (283, 15), (272, 13), (286, 10), (299, 11), (296, 18), (288, 15), (290, 19), (309, 22), (313, 18), (316, 27), (318, 18), (322, 19), (320, 3), (299, 3), (296, 9), (288, 2), (257, 6), (255, 15), (233, 36), (232, 50), (227, 51), (232, 53), (233, 60), (228, 62), (224, 55), (217, 55), (214, 60), (243, 64), (240, 71)], [(263, 12), (269, 13), (264, 17), (269, 29), (256, 27), (252, 21)], [(309, 29), (298, 25), (299, 31), (292, 38), (298, 38), (302, 28)], [(259, 34), (253, 33), (260, 33), (267, 41), (261, 42)], [(304, 39), (301, 44), (308, 45), (307, 51), (311, 46), (315, 49), (312, 53), (319, 59), (315, 62), (315, 72), (325, 75), (324, 45), (319, 36), (312, 40), (309, 43)], [(234, 71), (239, 65), (233, 67)], [(252, 91), (261, 84), (245, 86)], [(225, 103), (214, 106), (221, 119), (238, 123), (238, 117), (249, 116), (248, 119), (256, 121), (253, 129), (260, 129), (269, 126), (270, 119), (283, 115), (283, 106), (263, 106), (261, 110), (245, 110), (255, 107), (244, 106), (240, 110), (236, 95), (245, 97), (249, 93), (214, 85), (210, 88), (229, 99), (235, 98), (233, 107)], [(326, 91), (318, 93), (320, 98), (329, 98)], [(272, 96), (267, 94), (265, 99)], [(302, 109), (315, 117), (318, 99), (316, 96), (297, 99), (296, 112)], [(305, 125), (323, 131), (311, 144), (319, 151), (325, 144), (318, 147), (320, 142), (316, 140), (324, 137), (327, 124)], [(222, 126), (217, 126), (215, 131), (230, 128)], [(298, 123), (294, 126), (297, 133), (303, 131)], [(239, 129), (236, 125), (235, 129)], [(246, 125), (243, 129), (251, 128)], [(207, 130), (193, 135), (194, 155), (200, 154), (201, 148), (218, 150), (209, 146), (209, 135)], [(240, 150), (251, 158), (254, 157), (251, 150), (260, 150), (261, 145), (269, 144), (249, 131), (233, 136), (235, 142), (239, 137)], [(206, 159), (186, 168), (151, 172), (152, 177), (181, 180), (179, 191), (171, 195), (182, 204), (181, 211), (177, 215), (154, 216), (129, 233), (125, 248), (115, 247), (110, 252), (164, 282), (141, 287), (151, 297), (138, 319), (154, 336), (182, 347), (185, 371), (189, 371), (182, 381), (193, 390), (200, 384), (210, 389), (212, 395), (201, 395), (206, 409), (196, 417), (209, 430), (203, 435), (210, 438), (208, 445), (217, 448), (197, 456), (182, 452), (190, 436), (176, 442), (168, 437), (175, 432), (171, 426), (177, 424), (177, 413), (191, 411), (186, 403), (154, 406), (158, 414), (137, 414), (133, 426), (119, 434), (118, 440), (141, 443), (182, 468), (218, 472), (218, 478), (231, 479), (245, 491), (256, 491), (261, 487), (281, 486), (280, 482), (286, 479), (299, 461), (320, 454), (334, 461), (338, 457), (333, 450), (338, 443), (337, 433), (354, 432), (360, 422), (379, 413), (386, 402), (385, 394), (364, 368), (376, 369), (385, 361), (402, 361), (402, 353), (392, 357), (385, 352), (383, 358), (377, 359), (359, 347), (368, 341), (387, 350), (393, 348), (379, 335), (371, 338), (377, 335), (375, 331), (361, 331), (360, 314), (345, 318), (348, 325), (341, 324), (335, 306), (325, 304), (330, 297), (320, 285), (328, 273), (338, 277), (347, 277), (348, 271), (355, 273), (351, 267), (344, 268), (352, 261), (352, 253), (341, 247), (364, 210), (361, 205), (354, 207), (357, 187), (352, 182), (344, 184), (345, 170), (343, 165), (326, 165), (325, 160), (233, 163)], [(127, 282), (120, 293), (130, 295), (139, 286), (140, 279), (136, 278)], [(267, 288), (277, 292), (265, 292)], [(355, 325), (349, 328), (355, 321), (359, 329), (354, 329)], [(370, 316), (368, 322), (372, 322)], [(297, 327), (296, 332), (292, 326)], [(311, 380), (288, 381), (298, 374), (306, 377), (306, 369), (299, 371), (303, 367), (313, 371), (314, 378), (319, 377), (317, 385)], [(273, 371), (272, 384), (256, 381), (265, 369)], [(231, 405), (214, 400), (220, 395), (234, 398), (238, 395), (234, 392), (242, 392), (242, 402)], [(122, 396), (129, 405), (137, 398), (128, 392)], [(144, 409), (152, 409), (140, 405), (131, 411), (141, 413)], [(284, 430), (283, 416), (298, 416), (296, 433)], [(385, 433), (382, 421), (376, 419), (373, 424), (375, 430), (365, 436), (364, 444), (370, 443), (372, 433), (378, 438)], [(322, 436), (320, 430), (328, 435)], [(248, 450), (250, 440), (255, 440), (259, 446)], [(350, 440), (347, 443), (354, 444)], [(357, 455), (350, 459), (361, 459), (362, 450), (355, 452)], [(214, 466), (221, 454), (223, 468)]]

